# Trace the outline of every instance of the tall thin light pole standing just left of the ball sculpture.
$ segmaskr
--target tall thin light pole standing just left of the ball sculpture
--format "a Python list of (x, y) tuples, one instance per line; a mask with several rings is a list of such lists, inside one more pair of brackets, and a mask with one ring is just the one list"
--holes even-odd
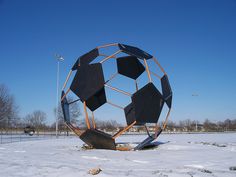
[(60, 62), (64, 60), (64, 58), (61, 55), (56, 54), (55, 58), (57, 60), (57, 96), (56, 96), (56, 137), (58, 137), (58, 103), (59, 103), (59, 77), (60, 77)]

